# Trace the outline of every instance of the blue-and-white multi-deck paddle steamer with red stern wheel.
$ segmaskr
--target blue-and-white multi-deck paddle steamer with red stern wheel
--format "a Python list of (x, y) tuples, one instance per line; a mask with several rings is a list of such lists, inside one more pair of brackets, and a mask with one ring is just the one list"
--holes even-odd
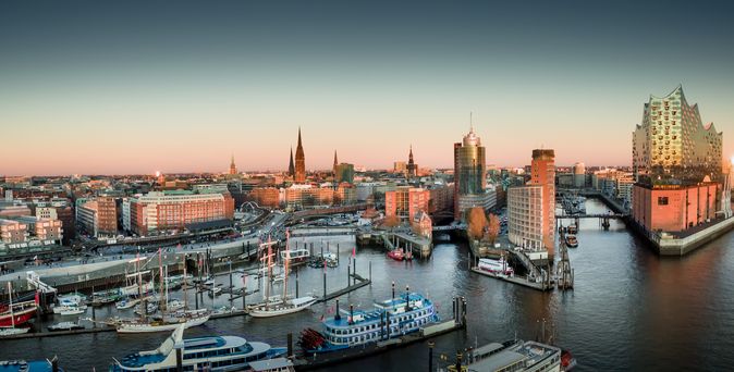
[(377, 302), (371, 311), (343, 311), (337, 302), (337, 314), (322, 321), (323, 332), (306, 328), (299, 344), (307, 355), (331, 352), (400, 337), (439, 320), (433, 302), (417, 293)]

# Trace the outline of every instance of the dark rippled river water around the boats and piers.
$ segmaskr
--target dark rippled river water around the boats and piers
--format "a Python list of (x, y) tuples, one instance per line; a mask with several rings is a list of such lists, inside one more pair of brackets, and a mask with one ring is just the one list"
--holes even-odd
[[(607, 208), (587, 200), (589, 213)], [(445, 363), (440, 355), (454, 358), (456, 349), (518, 337), (535, 339), (546, 321), (546, 335), (570, 349), (579, 371), (726, 371), (734, 368), (734, 234), (683, 258), (661, 258), (637, 236), (612, 222), (610, 231), (598, 221), (582, 221), (578, 248), (570, 250), (575, 288), (566, 293), (540, 293), (494, 278), (469, 273), (467, 247), (461, 241), (439, 243), (427, 261), (402, 263), (384, 258), (378, 248), (360, 249), (357, 272), (371, 286), (340, 299), (343, 309), (353, 303), (368, 307), (390, 296), (391, 283), (406, 285), (437, 302), (444, 318), (451, 317), (451, 298), (468, 301), (468, 327), (436, 339), (433, 365)], [(342, 261), (328, 270), (328, 290), (346, 285), (346, 257), (353, 243), (339, 243)], [(320, 241), (316, 243), (317, 246)], [(322, 269), (301, 268), (301, 294), (322, 292)], [(229, 281), (225, 276), (218, 280)], [(235, 282), (241, 278), (235, 275)], [(293, 280), (291, 280), (293, 284)], [(248, 286), (257, 283), (250, 281)], [(293, 287), (292, 287), (293, 288)], [(180, 296), (176, 294), (174, 296)], [(257, 298), (248, 297), (248, 301)], [(211, 299), (205, 297), (206, 305)], [(193, 296), (191, 296), (193, 303)], [(225, 305), (227, 295), (215, 306)], [(235, 300), (235, 306), (242, 306)], [(284, 346), (289, 332), (318, 328), (322, 314), (333, 311), (334, 301), (311, 311), (277, 319), (230, 318), (209, 321), (186, 331), (186, 337), (207, 334), (241, 335), (252, 340)], [(98, 318), (107, 313), (97, 312)], [(56, 321), (59, 321), (57, 319)], [(0, 342), (0, 359), (39, 359), (58, 355), (68, 371), (106, 370), (113, 358), (155, 349), (166, 334), (118, 335), (98, 333), (78, 336)], [(344, 363), (330, 371), (426, 371), (428, 349), (414, 345), (396, 351)]]

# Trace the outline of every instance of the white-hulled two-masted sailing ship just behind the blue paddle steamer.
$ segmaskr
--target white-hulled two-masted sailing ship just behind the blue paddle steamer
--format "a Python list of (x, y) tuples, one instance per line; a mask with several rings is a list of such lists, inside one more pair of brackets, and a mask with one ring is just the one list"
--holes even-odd
[(289, 265), (291, 262), (291, 249), (289, 247), (290, 233), (285, 230), (285, 259), (283, 260), (283, 296), (282, 297), (271, 297), (270, 296), (270, 286), (272, 285), (272, 250), (271, 246), (268, 245), (268, 255), (262, 258), (262, 262), (267, 261), (266, 270), (268, 272), (268, 277), (270, 283), (266, 285), (266, 294), (264, 301), (259, 303), (252, 305), (247, 307), (247, 311), (253, 318), (271, 318), (291, 314), (302, 310), (308, 309), (311, 305), (316, 303), (316, 297), (313, 296), (303, 296), (298, 298), (291, 298), (288, 294), (288, 272)]

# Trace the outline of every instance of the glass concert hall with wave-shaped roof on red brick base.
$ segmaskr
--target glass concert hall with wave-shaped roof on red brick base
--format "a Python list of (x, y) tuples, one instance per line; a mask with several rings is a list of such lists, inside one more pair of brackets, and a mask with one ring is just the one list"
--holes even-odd
[(704, 125), (678, 86), (650, 96), (633, 133), (633, 219), (647, 232), (684, 233), (726, 216), (722, 133)]

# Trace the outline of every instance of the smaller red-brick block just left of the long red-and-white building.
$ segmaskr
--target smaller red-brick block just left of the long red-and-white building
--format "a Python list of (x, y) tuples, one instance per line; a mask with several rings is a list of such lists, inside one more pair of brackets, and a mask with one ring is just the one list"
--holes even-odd
[(118, 204), (112, 197), (87, 200), (76, 209), (76, 220), (94, 237), (118, 235)]

